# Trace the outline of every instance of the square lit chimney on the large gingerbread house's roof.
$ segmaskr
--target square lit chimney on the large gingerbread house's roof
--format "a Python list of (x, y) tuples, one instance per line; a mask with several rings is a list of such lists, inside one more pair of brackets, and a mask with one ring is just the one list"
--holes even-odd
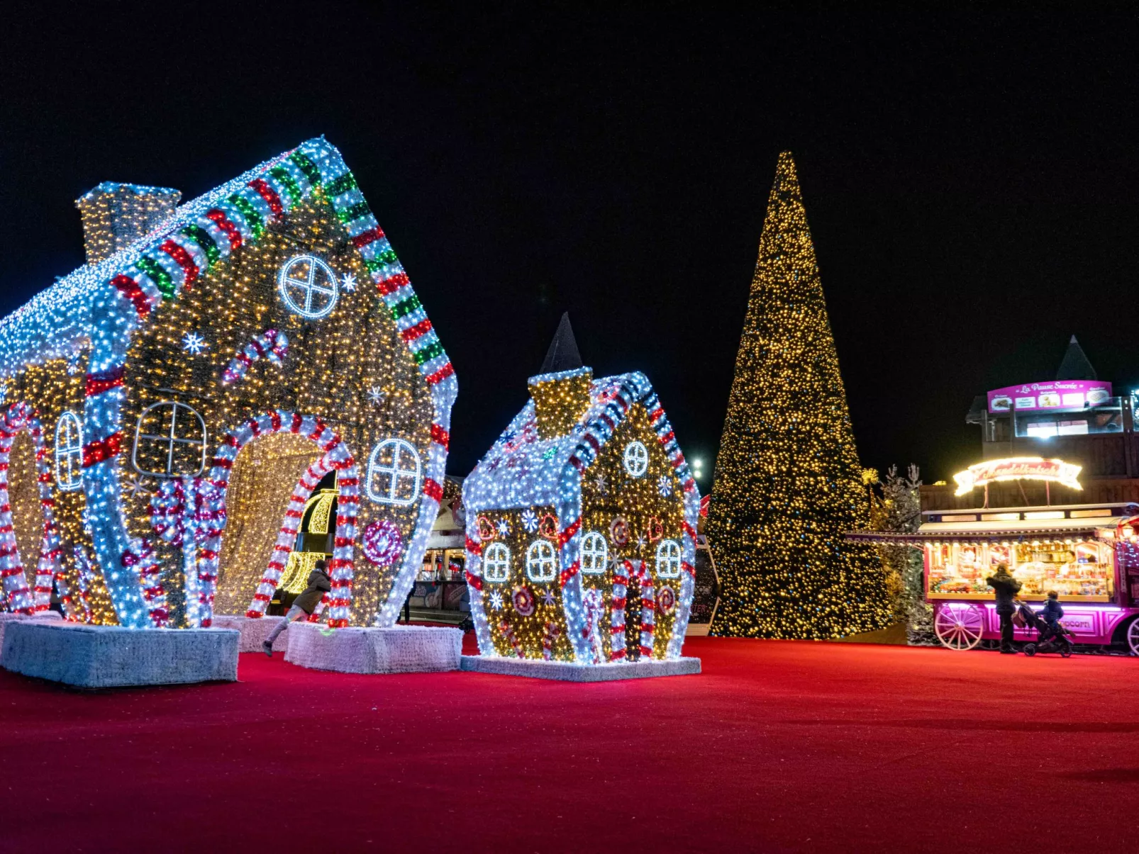
[(144, 237), (174, 213), (182, 194), (169, 187), (104, 181), (77, 199), (87, 263), (97, 264)]

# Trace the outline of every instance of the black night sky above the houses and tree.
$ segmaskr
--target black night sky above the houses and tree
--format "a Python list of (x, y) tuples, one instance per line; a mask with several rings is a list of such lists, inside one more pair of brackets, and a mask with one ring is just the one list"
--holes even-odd
[(1073, 334), (1139, 383), (1136, 13), (804, 6), (6, 7), (0, 312), (82, 263), (99, 181), (189, 199), (323, 133), (454, 363), (452, 474), (563, 311), (712, 460), (790, 149), (865, 465), (975, 461), (973, 396)]

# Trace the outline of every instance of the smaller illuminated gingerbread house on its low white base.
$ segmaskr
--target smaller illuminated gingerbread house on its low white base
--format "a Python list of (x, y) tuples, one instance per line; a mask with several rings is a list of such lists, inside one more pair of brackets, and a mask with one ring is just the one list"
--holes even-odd
[(482, 652), (464, 667), (580, 681), (698, 672), (681, 647), (699, 492), (652, 385), (595, 379), (564, 315), (528, 387), (462, 487)]

